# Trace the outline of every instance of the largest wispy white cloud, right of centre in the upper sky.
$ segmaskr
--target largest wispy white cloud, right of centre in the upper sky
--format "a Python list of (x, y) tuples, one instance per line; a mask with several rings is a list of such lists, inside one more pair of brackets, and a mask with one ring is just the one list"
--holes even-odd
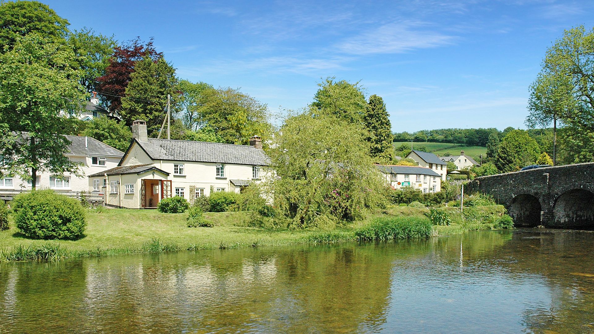
[(388, 23), (351, 37), (336, 45), (345, 53), (402, 53), (413, 49), (435, 48), (453, 43), (454, 37), (423, 29), (420, 22)]

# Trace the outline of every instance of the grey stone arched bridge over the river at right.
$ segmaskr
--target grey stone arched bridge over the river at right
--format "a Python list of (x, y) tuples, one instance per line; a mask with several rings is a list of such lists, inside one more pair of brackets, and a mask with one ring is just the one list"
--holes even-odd
[(594, 162), (479, 177), (465, 193), (490, 194), (516, 226), (594, 229)]

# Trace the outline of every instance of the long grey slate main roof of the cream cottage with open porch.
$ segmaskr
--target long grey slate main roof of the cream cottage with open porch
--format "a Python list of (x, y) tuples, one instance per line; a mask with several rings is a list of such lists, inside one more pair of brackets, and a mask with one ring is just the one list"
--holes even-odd
[(248, 145), (156, 138), (136, 142), (153, 160), (270, 165), (270, 159), (263, 150)]

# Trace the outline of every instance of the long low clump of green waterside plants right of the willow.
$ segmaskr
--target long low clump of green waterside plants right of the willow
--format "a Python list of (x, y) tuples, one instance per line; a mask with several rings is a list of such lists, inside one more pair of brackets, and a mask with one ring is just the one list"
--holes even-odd
[(393, 240), (431, 237), (429, 219), (420, 217), (381, 217), (355, 231), (358, 240)]

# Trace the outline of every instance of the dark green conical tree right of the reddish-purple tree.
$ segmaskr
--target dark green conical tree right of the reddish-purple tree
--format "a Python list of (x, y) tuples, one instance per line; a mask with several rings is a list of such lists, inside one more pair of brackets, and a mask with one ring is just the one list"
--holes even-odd
[(176, 110), (178, 79), (175, 77), (175, 68), (162, 57), (153, 60), (150, 56), (145, 56), (135, 64), (134, 73), (130, 77), (119, 114), (127, 125), (131, 125), (135, 119), (146, 121), (151, 136), (158, 133), (165, 119), (168, 94), (172, 98), (171, 113)]

